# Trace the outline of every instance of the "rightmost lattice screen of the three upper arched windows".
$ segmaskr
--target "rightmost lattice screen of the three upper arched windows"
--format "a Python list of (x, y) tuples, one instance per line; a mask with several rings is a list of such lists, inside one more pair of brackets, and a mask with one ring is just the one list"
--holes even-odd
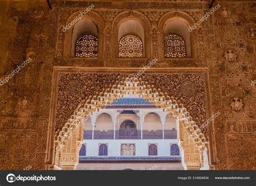
[(186, 57), (186, 45), (183, 38), (177, 35), (169, 35), (164, 38), (165, 57)]

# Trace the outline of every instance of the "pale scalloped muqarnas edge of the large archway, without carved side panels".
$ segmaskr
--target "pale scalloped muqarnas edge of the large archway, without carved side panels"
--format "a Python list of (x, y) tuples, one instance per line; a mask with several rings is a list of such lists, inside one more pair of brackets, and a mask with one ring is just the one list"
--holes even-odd
[[(75, 149), (77, 152), (79, 151), (79, 148), (82, 145), (82, 137), (80, 136), (82, 136), (83, 118), (104, 108), (105, 105), (111, 103), (114, 99), (122, 98), (126, 92), (132, 92), (132, 94), (138, 94), (144, 99), (149, 99), (149, 101), (151, 103), (154, 102), (157, 107), (163, 108), (164, 112), (172, 114), (174, 118), (178, 120), (178, 130), (182, 131), (185, 129), (187, 135), (193, 140), (195, 146), (198, 148), (201, 166), (208, 167), (208, 141), (198, 125), (196, 125), (196, 122), (192, 120), (187, 109), (184, 108), (180, 101), (174, 100), (174, 98), (169, 97), (167, 93), (160, 92), (159, 89), (157, 90), (154, 86), (150, 86), (147, 82), (142, 81), (142, 79), (138, 80), (137, 78), (134, 78), (133, 82), (131, 82), (129, 78), (125, 78), (120, 82), (116, 81), (115, 85), (104, 88), (101, 93), (97, 93), (93, 97), (90, 96), (89, 99), (86, 101), (83, 100), (79, 104), (68, 122), (65, 123), (62, 130), (59, 133), (56, 132), (56, 167), (59, 167), (60, 160), (66, 160), (66, 158), (62, 157), (62, 150), (67, 142), (69, 142), (72, 137), (74, 138), (74, 136), (75, 141), (78, 143), (78, 146)], [(77, 136), (75, 134), (77, 134)], [(73, 157), (72, 160), (73, 159), (78, 161), (78, 157)]]

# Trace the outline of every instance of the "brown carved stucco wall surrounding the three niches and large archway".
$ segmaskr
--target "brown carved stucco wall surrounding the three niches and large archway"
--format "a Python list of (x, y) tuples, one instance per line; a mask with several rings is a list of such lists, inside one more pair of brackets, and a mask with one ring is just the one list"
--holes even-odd
[[(99, 57), (71, 58), (71, 30), (63, 33), (62, 26), (91, 3), (95, 8), (84, 18), (98, 26)], [(5, 44), (10, 39), (1, 51), (1, 79), (23, 60), (32, 61), (0, 86), (0, 168), (52, 168), (46, 165), (53, 163), (55, 132), (79, 102), (157, 57), (158, 66), (144, 81), (180, 100), (198, 125), (221, 113), (204, 129), (212, 168), (255, 169), (256, 94), (251, 80), (256, 79), (256, 3), (219, 3), (220, 9), (191, 32), (192, 58), (183, 59), (164, 58), (163, 26), (173, 17), (193, 25), (208, 10), (206, 2), (58, 1), (51, 11), (45, 2), (23, 8), (4, 3), (1, 20), (11, 24), (3, 25), (10, 29), (8, 37), (1, 35)], [(147, 58), (116, 58), (116, 26), (127, 16), (146, 26)]]

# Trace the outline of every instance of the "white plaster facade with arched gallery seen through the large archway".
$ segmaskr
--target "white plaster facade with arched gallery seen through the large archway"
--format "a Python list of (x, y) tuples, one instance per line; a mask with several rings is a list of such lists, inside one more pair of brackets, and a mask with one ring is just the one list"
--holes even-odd
[[(127, 113), (130, 112), (130, 113)], [(100, 132), (113, 131), (112, 139), (95, 139), (92, 134), (92, 139), (84, 139), (83, 144), (86, 147), (86, 157), (104, 157), (99, 156), (100, 144), (106, 144), (107, 156), (105, 157), (120, 157), (122, 144), (134, 144), (136, 157), (150, 157), (149, 146), (155, 144), (157, 146), (157, 155), (154, 157), (170, 157), (171, 145), (177, 144), (177, 139), (164, 139), (163, 135), (159, 139), (143, 139), (143, 133), (140, 134), (141, 139), (116, 139), (115, 133), (120, 129), (124, 121), (132, 121), (136, 125), (138, 131), (147, 130), (149, 132), (164, 131), (177, 129), (177, 121), (163, 112), (161, 108), (140, 108), (140, 109), (113, 109), (104, 108), (99, 112), (93, 113), (84, 121), (84, 130), (95, 130)], [(80, 156), (82, 157), (82, 156)], [(122, 156), (124, 157), (124, 156)], [(129, 156), (126, 156), (129, 157)], [(152, 157), (152, 156), (151, 156)], [(174, 156), (172, 156), (174, 157)], [(179, 150), (179, 156), (181, 151)], [(79, 163), (78, 170), (183, 170), (181, 162), (172, 163)]]

